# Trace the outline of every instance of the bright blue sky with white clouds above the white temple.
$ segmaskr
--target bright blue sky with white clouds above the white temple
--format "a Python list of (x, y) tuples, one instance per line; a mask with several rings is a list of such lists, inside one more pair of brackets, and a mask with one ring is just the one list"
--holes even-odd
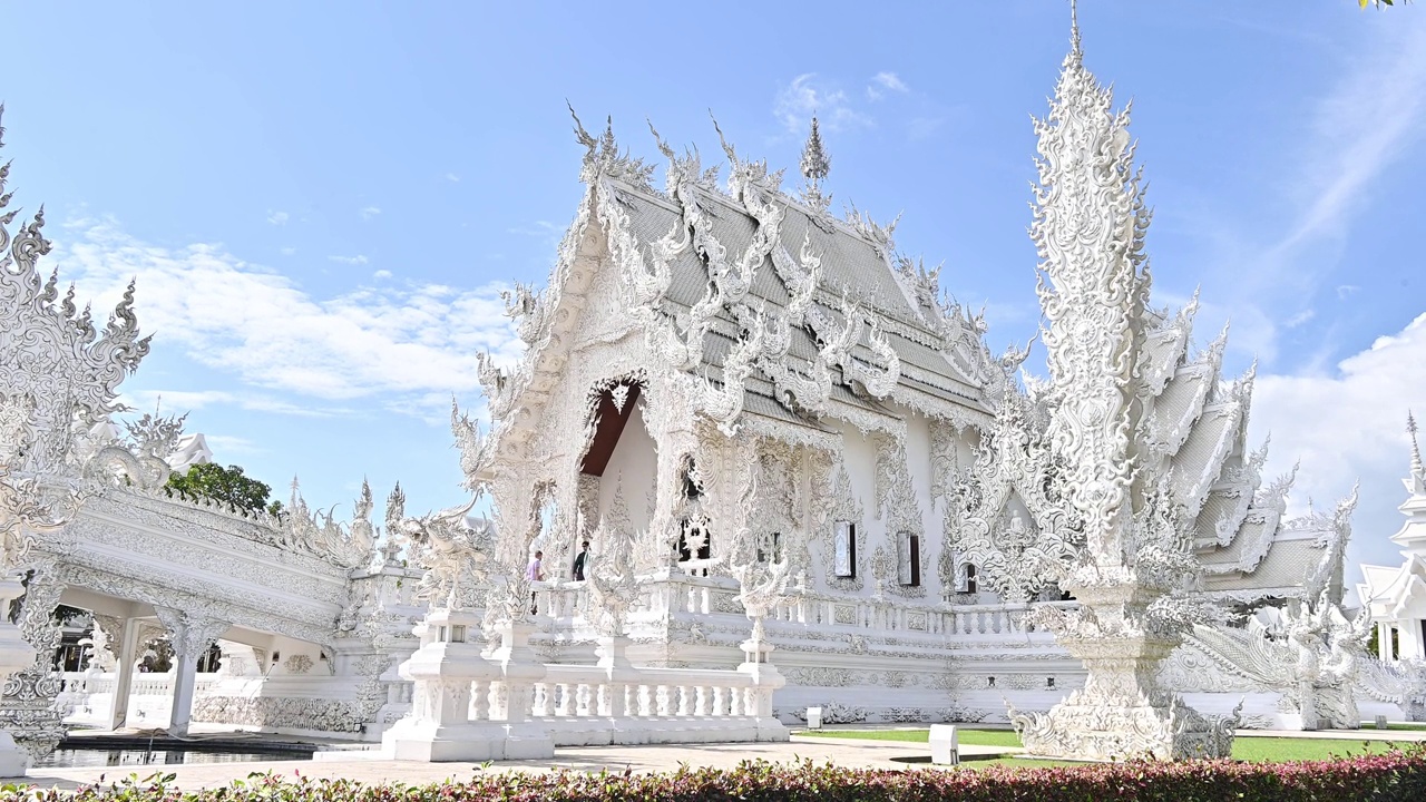
[[(566, 101), (657, 161), (670, 143), (796, 177), (813, 113), (833, 208), (903, 213), (901, 251), (985, 307), (998, 352), (1038, 325), (1034, 134), (1062, 0), (896, 4), (4, 4), (14, 204), (111, 308), (138, 280), (140, 411), (215, 458), (351, 511), (465, 499), (451, 398), (519, 350), (499, 291), (543, 284), (582, 194)], [(1426, 7), (1084, 0), (1085, 63), (1134, 98), (1155, 303), (1201, 288), (1256, 360), (1253, 444), (1302, 468), (1289, 512), (1360, 479), (1349, 558), (1399, 561), (1407, 408), (1426, 414)], [(724, 171), (726, 174), (726, 171)], [(657, 178), (656, 178), (657, 181)], [(46, 267), (48, 270), (48, 267)], [(1042, 371), (1042, 350), (1030, 362)], [(160, 402), (161, 398), (161, 402)], [(379, 511), (378, 511), (379, 512)], [(1355, 567), (1348, 582), (1359, 581)]]

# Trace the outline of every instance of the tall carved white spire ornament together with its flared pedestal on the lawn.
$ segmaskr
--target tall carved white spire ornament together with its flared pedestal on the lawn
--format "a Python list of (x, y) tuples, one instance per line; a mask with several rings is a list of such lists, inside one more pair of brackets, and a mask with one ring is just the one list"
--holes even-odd
[(1196, 577), (1192, 518), (1151, 461), (1137, 400), (1145, 372), (1148, 257), (1128, 110), (1084, 67), (1072, 26), (1050, 116), (1035, 121), (1040, 186), (1031, 237), (1048, 321), (1048, 440), (1084, 542), (1061, 587), (1079, 601), (1040, 622), (1088, 678), (1048, 714), (1011, 711), (1028, 752), (1158, 759), (1228, 756), (1233, 721), (1211, 722), (1158, 686), (1158, 664), (1195, 621), (1181, 597)]

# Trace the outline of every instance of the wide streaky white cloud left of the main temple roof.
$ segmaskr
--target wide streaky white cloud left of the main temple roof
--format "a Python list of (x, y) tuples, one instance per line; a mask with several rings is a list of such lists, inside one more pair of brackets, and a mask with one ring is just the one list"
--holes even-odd
[[(257, 390), (328, 402), (469, 397), (479, 388), (476, 352), (491, 350), (501, 361), (520, 352), (498, 284), (365, 287), (317, 298), (220, 245), (151, 245), (113, 220), (66, 228), (60, 260), (86, 287), (83, 294), (96, 297), (96, 308), (116, 303), (135, 277), (140, 325), (155, 333), (154, 347), (181, 348), (205, 367), (235, 374), (254, 388), (232, 395), (238, 404), (261, 404)], [(308, 407), (267, 395), (271, 411)]]

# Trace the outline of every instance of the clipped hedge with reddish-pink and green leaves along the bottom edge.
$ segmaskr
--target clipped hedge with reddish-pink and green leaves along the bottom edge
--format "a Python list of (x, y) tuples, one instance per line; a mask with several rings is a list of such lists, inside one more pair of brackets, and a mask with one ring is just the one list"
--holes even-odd
[(662, 775), (478, 772), (428, 786), (252, 775), (227, 788), (178, 792), (171, 782), (173, 775), (154, 775), (74, 792), (7, 786), (0, 802), (1420, 802), (1426, 748), (1291, 763), (873, 771), (759, 761)]

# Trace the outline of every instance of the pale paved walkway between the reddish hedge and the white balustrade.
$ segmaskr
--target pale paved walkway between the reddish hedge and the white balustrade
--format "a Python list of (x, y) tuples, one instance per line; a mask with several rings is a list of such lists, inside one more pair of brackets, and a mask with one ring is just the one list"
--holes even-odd
[[(1010, 746), (961, 746), (964, 756), (998, 756), (1018, 752)], [(790, 743), (697, 743), (672, 746), (583, 746), (556, 749), (549, 761), (502, 761), (483, 771), (552, 771), (570, 769), (582, 772), (665, 772), (680, 765), (694, 768), (733, 768), (742, 761), (764, 759), (771, 762), (797, 762), (810, 759), (817, 763), (833, 762), (840, 766), (907, 769), (930, 766), (930, 748), (925, 743), (904, 741), (861, 741), (850, 738), (803, 738), (793, 736)], [(463, 779), (482, 771), (478, 763), (419, 763), (411, 761), (362, 759), (361, 752), (351, 758), (321, 761), (267, 761), (251, 763), (151, 763), (144, 766), (110, 768), (39, 768), (31, 769), (26, 782), (43, 788), (58, 786), (73, 789), (78, 785), (113, 782), (121, 776), (137, 773), (140, 778), (154, 772), (173, 772), (174, 785), (181, 789), (212, 788), (228, 785), (234, 779), (247, 778), (252, 772), (292, 775), (301, 772), (314, 778), (348, 778), (359, 782), (405, 782), (419, 785), (439, 782), (448, 778)], [(334, 755), (335, 756), (335, 755)]]

